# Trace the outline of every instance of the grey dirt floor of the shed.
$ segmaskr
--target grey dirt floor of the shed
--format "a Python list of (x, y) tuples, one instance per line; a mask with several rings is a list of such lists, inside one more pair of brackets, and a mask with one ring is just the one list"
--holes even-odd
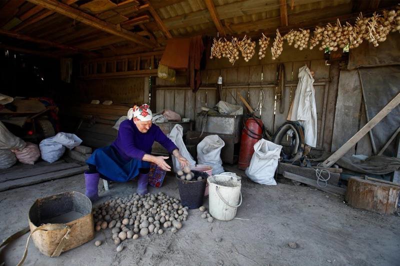
[[(135, 187), (133, 181), (112, 183), (100, 200), (131, 194)], [(0, 239), (27, 225), (34, 199), (66, 190), (84, 192), (83, 174), (0, 192)], [(150, 189), (158, 191), (179, 196), (172, 176), (160, 189)], [(208, 223), (198, 209), (189, 210), (177, 233), (127, 239), (119, 253), (111, 229), (53, 258), (30, 242), (25, 265), (400, 265), (397, 215), (354, 209), (342, 197), (291, 182), (264, 186), (244, 177), (241, 191), (243, 203), (231, 221)], [(3, 248), (0, 261), (15, 265), (26, 238)], [(96, 247), (95, 240), (103, 243)]]

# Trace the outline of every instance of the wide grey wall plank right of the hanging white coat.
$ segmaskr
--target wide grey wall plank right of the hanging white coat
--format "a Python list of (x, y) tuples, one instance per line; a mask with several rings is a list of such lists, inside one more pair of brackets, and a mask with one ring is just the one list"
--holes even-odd
[[(340, 70), (331, 151), (337, 150), (358, 129), (361, 86), (356, 70)], [(354, 154), (352, 147), (348, 154)]]

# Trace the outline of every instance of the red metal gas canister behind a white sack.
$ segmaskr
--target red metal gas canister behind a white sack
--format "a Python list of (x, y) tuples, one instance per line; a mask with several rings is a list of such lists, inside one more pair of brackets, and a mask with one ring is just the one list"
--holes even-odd
[(239, 161), (237, 167), (245, 169), (250, 164), (251, 156), (254, 153), (254, 144), (262, 137), (262, 120), (248, 118), (241, 130)]

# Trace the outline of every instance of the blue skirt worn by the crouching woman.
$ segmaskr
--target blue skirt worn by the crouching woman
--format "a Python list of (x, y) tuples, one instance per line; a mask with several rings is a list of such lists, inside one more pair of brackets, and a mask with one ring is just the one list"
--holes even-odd
[(97, 171), (104, 179), (116, 182), (131, 180), (139, 174), (139, 168), (150, 167), (148, 161), (123, 159), (113, 146), (97, 148), (86, 163), (96, 165)]

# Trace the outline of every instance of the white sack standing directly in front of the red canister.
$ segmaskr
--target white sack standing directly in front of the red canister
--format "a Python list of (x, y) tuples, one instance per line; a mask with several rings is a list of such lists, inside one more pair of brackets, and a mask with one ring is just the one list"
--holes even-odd
[(261, 138), (254, 144), (250, 165), (244, 171), (248, 178), (259, 184), (276, 185), (275, 175), (281, 145)]

